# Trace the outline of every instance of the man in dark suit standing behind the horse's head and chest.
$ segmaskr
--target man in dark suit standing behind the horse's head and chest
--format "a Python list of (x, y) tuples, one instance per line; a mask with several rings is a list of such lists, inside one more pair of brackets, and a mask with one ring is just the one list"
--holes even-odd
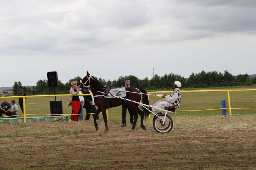
[[(91, 92), (91, 87), (88, 87), (88, 90), (84, 91), (84, 94), (92, 94)], [(94, 103), (94, 98), (93, 96), (84, 96), (84, 109), (86, 109), (86, 113), (95, 113), (96, 112), (96, 107)], [(85, 120), (90, 119), (91, 114), (86, 114)], [(99, 120), (99, 116), (97, 115), (96, 117), (97, 120)]]

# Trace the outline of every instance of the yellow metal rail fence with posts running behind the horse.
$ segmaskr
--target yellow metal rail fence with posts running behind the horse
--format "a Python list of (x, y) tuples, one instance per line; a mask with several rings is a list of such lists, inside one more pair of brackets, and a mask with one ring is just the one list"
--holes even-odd
[[(177, 111), (177, 112), (191, 112), (191, 111), (211, 111), (211, 110), (222, 110), (222, 109), (228, 109), (229, 115), (232, 115), (231, 109), (256, 109), (256, 108), (231, 108), (230, 104), (230, 92), (239, 92), (239, 91), (256, 91), (256, 89), (244, 89), (244, 90), (187, 90), (187, 91), (180, 91), (181, 93), (195, 93), (195, 92), (227, 92), (228, 96), (228, 108), (218, 108), (218, 109), (203, 109), (203, 110), (186, 110), (186, 111)], [(172, 91), (152, 91), (148, 92), (151, 94), (166, 94), (166, 93), (172, 93)], [(80, 94), (78, 96), (90, 96), (91, 94)], [(72, 95), (36, 95), (36, 96), (8, 96), (8, 97), (0, 97), (1, 98), (23, 98), (23, 118), (24, 123), (26, 123), (26, 115), (32, 115), (32, 114), (26, 114), (26, 104), (25, 104), (25, 98), (29, 97), (57, 97), (57, 96), (72, 96)], [(71, 115), (71, 114), (66, 114)], [(10, 116), (5, 116), (10, 117)], [(4, 118), (4, 117), (2, 117)], [(107, 119), (108, 119), (108, 112), (107, 112)]]

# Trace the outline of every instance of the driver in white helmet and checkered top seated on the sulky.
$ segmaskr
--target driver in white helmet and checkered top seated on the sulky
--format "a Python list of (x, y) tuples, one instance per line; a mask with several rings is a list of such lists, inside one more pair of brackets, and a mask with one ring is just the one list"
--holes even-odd
[[(162, 95), (162, 98), (165, 98), (166, 101), (158, 101), (155, 104), (153, 104), (152, 106), (160, 108), (160, 109), (164, 109), (165, 107), (180, 107), (180, 102), (181, 102), (181, 95), (180, 95), (180, 87), (181, 87), (181, 83), (180, 81), (175, 81), (173, 83), (173, 92), (171, 95)], [(156, 112), (158, 111), (157, 108), (152, 108), (152, 112)]]

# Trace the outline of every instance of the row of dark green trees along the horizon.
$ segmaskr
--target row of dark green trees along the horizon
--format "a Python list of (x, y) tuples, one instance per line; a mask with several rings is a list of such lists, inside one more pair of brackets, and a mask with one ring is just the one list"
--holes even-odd
[[(138, 89), (148, 89), (148, 90), (158, 90), (158, 89), (169, 89), (172, 90), (172, 83), (174, 81), (180, 81), (182, 88), (205, 88), (205, 87), (224, 87), (224, 86), (248, 86), (256, 84), (256, 78), (250, 79), (248, 74), (239, 74), (232, 75), (227, 70), (224, 73), (212, 71), (205, 72), (202, 71), (198, 74), (192, 73), (190, 77), (186, 80), (184, 77), (178, 74), (165, 74), (159, 76), (154, 75), (153, 78), (149, 79), (148, 77), (144, 79), (139, 79), (135, 75), (120, 76), (118, 79), (107, 81), (102, 78), (98, 80), (103, 85), (108, 85), (111, 87), (120, 87), (124, 84), (124, 79), (129, 78), (131, 85)], [(70, 79), (65, 84), (59, 80), (59, 85), (55, 88), (56, 94), (69, 94), (69, 89), (71, 87), (70, 83), (72, 81), (80, 81), (82, 78), (77, 76), (73, 79)], [(48, 86), (48, 81), (38, 80), (36, 86), (26, 87), (22, 86), (20, 81), (14, 82), (13, 93), (17, 95), (19, 89), (23, 88), (23, 92), (26, 92), (27, 95), (42, 95), (42, 94), (54, 94), (53, 87)]]

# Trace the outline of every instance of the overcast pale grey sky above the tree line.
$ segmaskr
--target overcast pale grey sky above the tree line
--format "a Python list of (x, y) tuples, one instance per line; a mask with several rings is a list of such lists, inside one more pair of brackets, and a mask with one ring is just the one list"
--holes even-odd
[[(256, 74), (255, 0), (0, 0), (0, 87)], [(131, 80), (132, 82), (132, 80)]]

